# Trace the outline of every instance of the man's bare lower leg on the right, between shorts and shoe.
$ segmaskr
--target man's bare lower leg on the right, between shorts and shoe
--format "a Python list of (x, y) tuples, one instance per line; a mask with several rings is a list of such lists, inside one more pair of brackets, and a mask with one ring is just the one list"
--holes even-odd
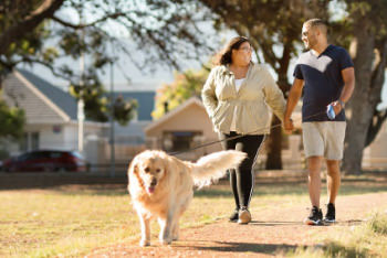
[(341, 184), (339, 161), (326, 160), (326, 168), (327, 168), (326, 185), (327, 185), (328, 203), (335, 204), (339, 184)]

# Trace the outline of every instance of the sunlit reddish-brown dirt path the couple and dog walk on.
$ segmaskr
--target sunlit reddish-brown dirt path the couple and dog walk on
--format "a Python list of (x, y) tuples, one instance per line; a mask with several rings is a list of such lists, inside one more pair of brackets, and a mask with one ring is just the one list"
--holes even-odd
[(182, 229), (180, 240), (160, 246), (153, 238), (150, 247), (138, 247), (138, 240), (94, 250), (87, 257), (272, 257), (299, 246), (318, 245), (316, 234), (358, 225), (375, 208), (387, 211), (387, 193), (341, 196), (336, 204), (338, 222), (332, 226), (305, 226), (307, 211), (292, 205), (253, 214), (249, 225), (221, 219), (197, 228)]

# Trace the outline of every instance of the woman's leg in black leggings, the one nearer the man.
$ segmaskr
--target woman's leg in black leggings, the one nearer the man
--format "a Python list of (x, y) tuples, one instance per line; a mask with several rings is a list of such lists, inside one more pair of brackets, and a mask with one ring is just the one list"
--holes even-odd
[(237, 169), (237, 190), (240, 207), (248, 208), (254, 187), (253, 165), (264, 136), (243, 136), (236, 139), (236, 149), (248, 153), (248, 158)]

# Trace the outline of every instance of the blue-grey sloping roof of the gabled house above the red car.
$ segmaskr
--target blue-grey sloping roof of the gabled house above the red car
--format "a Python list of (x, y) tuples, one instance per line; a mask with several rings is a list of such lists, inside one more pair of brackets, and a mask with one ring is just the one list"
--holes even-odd
[(73, 96), (29, 71), (18, 69), (18, 72), (72, 120), (76, 120), (77, 104)]

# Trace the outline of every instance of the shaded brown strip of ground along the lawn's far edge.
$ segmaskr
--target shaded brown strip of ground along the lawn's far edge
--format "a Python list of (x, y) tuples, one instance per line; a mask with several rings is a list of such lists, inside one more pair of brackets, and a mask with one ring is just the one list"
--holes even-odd
[[(296, 179), (295, 179), (296, 178)], [(31, 190), (48, 189), (69, 195), (126, 195), (127, 179), (91, 176), (88, 174), (3, 174), (0, 175), (1, 190)], [(325, 192), (326, 182), (323, 180), (322, 192)], [(345, 178), (339, 190), (341, 195), (366, 194), (387, 192), (386, 174), (364, 174)], [(307, 195), (305, 176), (275, 176), (258, 178), (254, 187), (255, 196), (266, 195)], [(227, 179), (211, 187), (195, 190), (196, 197), (218, 198), (231, 197), (232, 193)]]

